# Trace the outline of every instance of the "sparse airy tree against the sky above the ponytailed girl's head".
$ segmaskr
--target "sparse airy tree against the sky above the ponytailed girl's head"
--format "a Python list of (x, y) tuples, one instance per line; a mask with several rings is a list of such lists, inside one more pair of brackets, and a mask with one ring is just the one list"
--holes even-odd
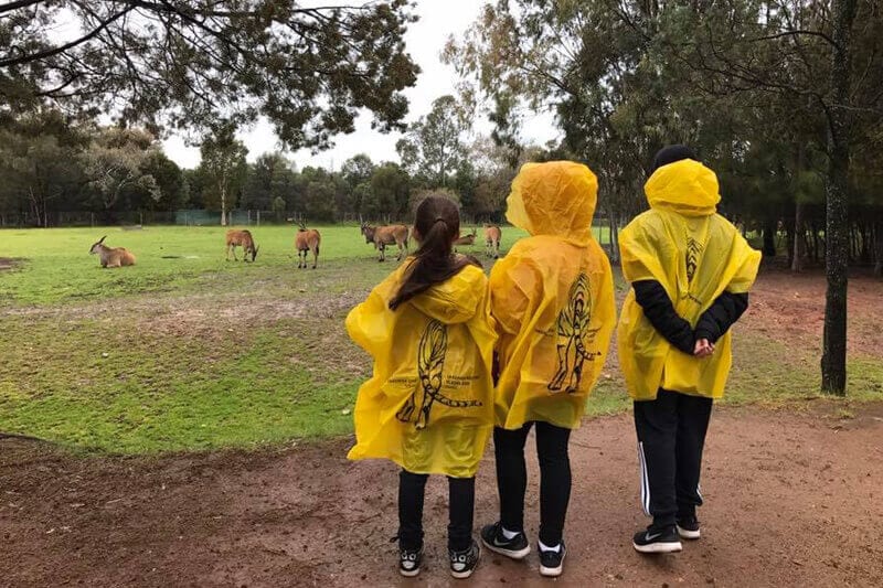
[(402, 167), (432, 188), (449, 185), (466, 157), (462, 136), (470, 128), (454, 96), (436, 98), (424, 117), (408, 128), (395, 146)]

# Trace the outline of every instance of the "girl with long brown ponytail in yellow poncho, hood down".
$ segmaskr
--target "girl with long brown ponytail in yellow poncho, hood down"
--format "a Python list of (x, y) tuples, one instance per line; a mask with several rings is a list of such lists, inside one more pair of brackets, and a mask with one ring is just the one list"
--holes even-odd
[(385, 458), (398, 478), (398, 571), (423, 558), (423, 501), (430, 473), (448, 477), (450, 573), (468, 578), (480, 550), (472, 539), (475, 475), (493, 426), (496, 334), (481, 265), (453, 254), (457, 206), (444, 196), (416, 211), (415, 257), (347, 317), (350, 336), (374, 359), (359, 389), (350, 459)]

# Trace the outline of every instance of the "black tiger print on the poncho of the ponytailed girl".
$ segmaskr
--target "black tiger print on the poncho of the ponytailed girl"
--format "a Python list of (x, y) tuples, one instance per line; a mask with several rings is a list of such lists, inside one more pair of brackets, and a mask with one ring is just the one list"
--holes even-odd
[(448, 350), (448, 330), (439, 321), (429, 321), (421, 336), (417, 348), (417, 373), (419, 388), (415, 389), (395, 418), (402, 423), (414, 423), (417, 429), (426, 428), (433, 403), (451, 408), (481, 406), (480, 400), (454, 400), (442, 395), (442, 377), (445, 367), (445, 353)]

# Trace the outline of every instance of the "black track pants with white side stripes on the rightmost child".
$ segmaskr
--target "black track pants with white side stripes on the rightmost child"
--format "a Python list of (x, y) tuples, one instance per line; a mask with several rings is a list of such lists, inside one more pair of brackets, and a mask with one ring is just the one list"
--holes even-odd
[(694, 516), (702, 504), (699, 474), (712, 399), (660, 389), (656, 400), (635, 403), (641, 502), (653, 528)]

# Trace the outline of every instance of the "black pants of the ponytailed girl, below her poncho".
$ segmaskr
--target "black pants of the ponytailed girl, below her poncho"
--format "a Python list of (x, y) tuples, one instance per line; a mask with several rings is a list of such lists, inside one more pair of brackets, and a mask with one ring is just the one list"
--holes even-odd
[[(398, 473), (398, 546), (419, 549), (423, 546), (423, 499), (425, 473)], [(475, 478), (448, 478), (448, 549), (462, 552), (472, 544), (472, 510), (476, 502)]]

